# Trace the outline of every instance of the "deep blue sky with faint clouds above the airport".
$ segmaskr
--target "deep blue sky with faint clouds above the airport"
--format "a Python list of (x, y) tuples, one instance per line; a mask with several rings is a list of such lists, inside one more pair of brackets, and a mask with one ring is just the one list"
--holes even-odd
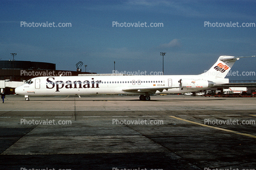
[[(96, 73), (112, 73), (115, 61), (118, 71), (149, 73), (162, 71), (160, 52), (166, 52), (165, 74), (200, 74), (220, 55), (256, 55), (256, 27), (242, 26), (256, 23), (255, 7), (254, 0), (3, 0), (0, 58), (12, 59), (10, 53), (14, 52), (15, 60), (56, 63), (56, 69), (72, 71), (81, 61), (88, 65), (86, 71)], [(39, 26), (47, 22), (55, 26), (70, 24)], [(119, 25), (113, 26), (113, 22)], [(230, 22), (235, 26), (227, 27)], [(143, 24), (135, 27), (139, 23)], [(150, 27), (151, 23), (160, 24)], [(241, 58), (232, 71), (256, 72), (255, 64), (256, 58)], [(256, 76), (228, 78), (246, 80)]]

